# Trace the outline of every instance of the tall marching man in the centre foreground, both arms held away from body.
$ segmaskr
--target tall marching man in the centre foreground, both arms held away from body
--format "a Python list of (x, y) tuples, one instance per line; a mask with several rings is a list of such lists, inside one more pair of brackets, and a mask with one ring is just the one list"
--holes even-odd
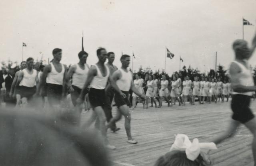
[(105, 61), (106, 61), (106, 58), (108, 57), (106, 49), (99, 48), (99, 49), (97, 49), (96, 52), (97, 52), (97, 56), (98, 56), (98, 59), (99, 59), (98, 63), (96, 63), (95, 65), (92, 65), (92, 67), (89, 69), (88, 76), (87, 76), (87, 79), (85, 81), (84, 87), (81, 91), (80, 96), (76, 100), (76, 103), (81, 104), (83, 102), (84, 96), (85, 96), (86, 91), (87, 91), (86, 89), (90, 85), (90, 91), (89, 91), (88, 96), (89, 96), (90, 104), (91, 104), (92, 109), (94, 111), (92, 111), (92, 115), (91, 115), (89, 121), (87, 121), (82, 126), (83, 127), (90, 126), (96, 120), (96, 118), (98, 117), (98, 119), (99, 119), (99, 128), (100, 128), (100, 131), (101, 131), (102, 136), (104, 138), (106, 147), (110, 148), (110, 149), (115, 149), (116, 147), (109, 144), (109, 142), (107, 140), (107, 136), (106, 136), (106, 127), (105, 127), (106, 116), (105, 116), (103, 108), (106, 105), (105, 88), (106, 88), (106, 85), (107, 85), (107, 81), (110, 81), (110, 84), (112, 85), (112, 87), (121, 96), (125, 97), (126, 95), (124, 93), (122, 93), (122, 91), (120, 91), (120, 89), (118, 88), (116, 83), (110, 77), (110, 71), (109, 71), (107, 65), (104, 64)]

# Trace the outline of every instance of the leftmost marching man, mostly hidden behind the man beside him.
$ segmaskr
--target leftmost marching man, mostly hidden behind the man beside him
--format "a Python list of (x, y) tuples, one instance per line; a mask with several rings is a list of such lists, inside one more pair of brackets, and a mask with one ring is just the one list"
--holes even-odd
[[(20, 70), (15, 73), (14, 79), (12, 81), (12, 85), (11, 85), (11, 90), (10, 90), (9, 96), (12, 97), (12, 98), (14, 98), (16, 96), (16, 107), (20, 106), (21, 101), (20, 101), (20, 86), (15, 88), (15, 85), (16, 85), (19, 73), (23, 69), (25, 69), (26, 67), (27, 67), (26, 61), (22, 61), (20, 63)], [(15, 89), (15, 91), (14, 91), (14, 89)]]

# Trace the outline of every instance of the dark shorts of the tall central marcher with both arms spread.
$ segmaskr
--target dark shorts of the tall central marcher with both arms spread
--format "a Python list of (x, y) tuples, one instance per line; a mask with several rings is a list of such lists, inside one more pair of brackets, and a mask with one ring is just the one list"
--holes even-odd
[(104, 106), (106, 105), (105, 89), (90, 88), (88, 97), (90, 104), (93, 108), (99, 106), (104, 108)]

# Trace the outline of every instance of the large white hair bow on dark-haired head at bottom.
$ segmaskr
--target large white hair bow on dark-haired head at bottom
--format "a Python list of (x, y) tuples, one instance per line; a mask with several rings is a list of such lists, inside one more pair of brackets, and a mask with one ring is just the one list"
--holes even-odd
[(199, 156), (199, 154), (201, 154), (204, 159), (209, 160), (208, 158), (205, 158), (206, 155), (202, 153), (202, 150), (213, 150), (213, 149), (217, 149), (216, 144), (214, 144), (213, 142), (199, 143), (197, 138), (194, 138), (193, 142), (191, 142), (188, 139), (187, 135), (177, 134), (175, 137), (175, 141), (170, 148), (170, 151), (173, 151), (173, 150), (185, 151), (187, 158), (189, 160), (194, 161)]

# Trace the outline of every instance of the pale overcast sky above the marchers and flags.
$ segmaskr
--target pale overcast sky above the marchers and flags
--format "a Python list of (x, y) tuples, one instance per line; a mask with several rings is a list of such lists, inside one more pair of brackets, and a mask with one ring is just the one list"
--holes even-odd
[[(191, 65), (201, 72), (217, 64), (228, 68), (234, 59), (232, 42), (242, 38), (242, 18), (256, 25), (256, 0), (1, 0), (0, 61), (34, 57), (48, 62), (62, 49), (62, 63), (78, 62), (82, 32), (88, 64), (97, 62), (96, 49), (132, 55), (135, 71), (179, 70)], [(251, 43), (256, 26), (244, 26)], [(166, 47), (174, 58), (166, 57)], [(256, 53), (250, 64), (256, 66)], [(130, 64), (132, 67), (132, 62)]]

